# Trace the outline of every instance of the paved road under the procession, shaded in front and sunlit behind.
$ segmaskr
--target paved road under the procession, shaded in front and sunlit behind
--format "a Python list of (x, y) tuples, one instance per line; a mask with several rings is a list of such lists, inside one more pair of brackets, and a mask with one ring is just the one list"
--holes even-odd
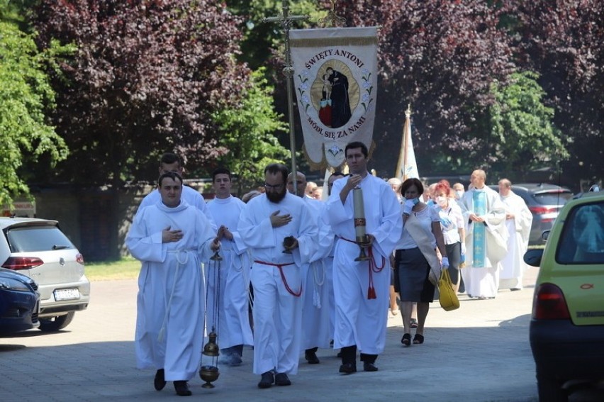
[[(537, 401), (535, 364), (528, 343), (532, 284), (478, 301), (460, 296), (462, 307), (443, 311), (433, 303), (425, 343), (403, 347), (401, 316), (388, 317), (386, 350), (379, 372), (337, 373), (333, 350), (319, 350), (321, 364), (301, 359), (292, 386), (258, 389), (252, 350), (240, 367), (220, 366), (214, 389), (191, 382), (203, 401)], [(154, 372), (135, 369), (136, 281), (97, 281), (89, 309), (60, 333), (30, 330), (0, 337), (0, 401), (167, 401), (172, 384), (153, 389)]]

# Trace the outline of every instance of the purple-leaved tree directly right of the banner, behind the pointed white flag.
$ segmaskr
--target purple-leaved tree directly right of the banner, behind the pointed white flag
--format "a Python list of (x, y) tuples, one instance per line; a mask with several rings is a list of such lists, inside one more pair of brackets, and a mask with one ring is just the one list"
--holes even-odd
[(409, 104), (420, 170), (435, 152), (488, 164), (490, 133), (477, 130), (476, 122), (494, 101), (491, 84), (505, 83), (514, 67), (500, 10), (479, 0), (411, 0), (402, 7), (382, 0), (351, 1), (340, 12), (349, 25), (381, 26), (379, 167), (379, 160), (389, 164), (387, 171), (396, 164), (385, 152), (398, 149)]

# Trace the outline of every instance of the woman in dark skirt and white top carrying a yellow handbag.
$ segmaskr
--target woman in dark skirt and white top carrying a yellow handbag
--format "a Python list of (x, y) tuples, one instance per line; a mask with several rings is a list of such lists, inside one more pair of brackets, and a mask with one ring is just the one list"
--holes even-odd
[(434, 301), (435, 285), (430, 270), (440, 268), (436, 247), (442, 255), (442, 266), (448, 267), (447, 250), (440, 230), (440, 217), (435, 208), (419, 201), (423, 185), (418, 179), (407, 179), (401, 186), (403, 203), (403, 233), (395, 252), (396, 279), (401, 293), (401, 311), (405, 333), (401, 342), (411, 345), (410, 317), (413, 302), (418, 303), (418, 328), (413, 344), (424, 342), (424, 325), (430, 303)]

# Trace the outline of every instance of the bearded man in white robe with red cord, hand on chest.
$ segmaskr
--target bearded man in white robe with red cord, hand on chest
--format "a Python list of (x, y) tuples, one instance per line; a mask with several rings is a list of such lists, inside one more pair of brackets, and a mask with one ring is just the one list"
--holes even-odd
[(266, 192), (245, 205), (237, 225), (253, 260), (254, 373), (261, 374), (259, 388), (291, 385), (288, 374), (298, 372), (301, 265), (313, 255), (318, 235), (306, 203), (286, 189), (288, 173), (283, 164), (264, 169)]

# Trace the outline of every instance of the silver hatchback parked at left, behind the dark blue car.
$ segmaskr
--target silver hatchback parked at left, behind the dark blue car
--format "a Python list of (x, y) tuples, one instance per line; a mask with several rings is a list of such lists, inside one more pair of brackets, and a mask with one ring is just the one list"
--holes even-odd
[(90, 301), (84, 257), (56, 220), (0, 218), (1, 267), (33, 279), (40, 292), (40, 330), (65, 328)]

